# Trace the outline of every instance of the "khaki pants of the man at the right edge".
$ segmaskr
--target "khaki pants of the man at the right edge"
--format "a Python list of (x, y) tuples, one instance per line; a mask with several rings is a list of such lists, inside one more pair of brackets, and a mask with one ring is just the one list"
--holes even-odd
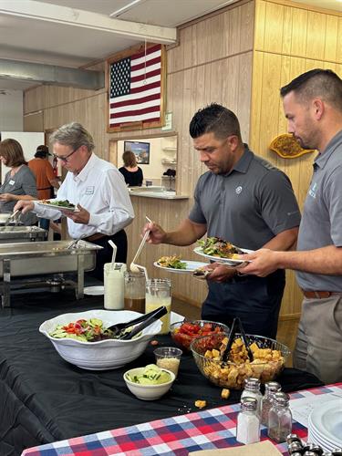
[(342, 294), (304, 298), (294, 367), (316, 375), (325, 384), (342, 381)]

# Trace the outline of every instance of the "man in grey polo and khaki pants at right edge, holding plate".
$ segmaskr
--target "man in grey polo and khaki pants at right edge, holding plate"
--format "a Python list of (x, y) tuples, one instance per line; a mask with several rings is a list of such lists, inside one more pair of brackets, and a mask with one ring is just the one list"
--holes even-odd
[(261, 250), (244, 273), (297, 271), (304, 293), (294, 365), (326, 383), (342, 381), (342, 79), (325, 69), (281, 89), (288, 131), (319, 150), (306, 195), (297, 252)]

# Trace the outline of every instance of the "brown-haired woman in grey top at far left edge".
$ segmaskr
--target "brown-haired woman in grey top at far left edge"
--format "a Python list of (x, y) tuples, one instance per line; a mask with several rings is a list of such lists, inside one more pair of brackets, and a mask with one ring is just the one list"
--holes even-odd
[[(11, 168), (5, 175), (0, 187), (0, 202), (2, 212), (13, 212), (19, 200), (36, 200), (36, 178), (28, 168), (24, 152), (16, 140), (0, 141), (0, 161)], [(21, 222), (25, 225), (36, 223), (36, 215), (28, 212), (22, 215)]]

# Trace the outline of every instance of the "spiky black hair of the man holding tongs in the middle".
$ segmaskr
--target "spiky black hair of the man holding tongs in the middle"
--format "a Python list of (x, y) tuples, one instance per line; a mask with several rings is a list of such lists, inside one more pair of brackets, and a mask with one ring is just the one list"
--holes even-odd
[(199, 109), (190, 122), (189, 130), (192, 139), (205, 133), (214, 133), (219, 140), (229, 135), (236, 135), (242, 140), (239, 120), (233, 111), (217, 103)]

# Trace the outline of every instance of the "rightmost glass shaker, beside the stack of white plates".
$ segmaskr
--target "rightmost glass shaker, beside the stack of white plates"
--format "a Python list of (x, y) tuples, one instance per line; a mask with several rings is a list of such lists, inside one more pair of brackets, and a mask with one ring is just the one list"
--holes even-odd
[(292, 414), (289, 409), (289, 396), (283, 392), (274, 395), (273, 405), (268, 415), (268, 437), (276, 443), (286, 441), (292, 430)]

